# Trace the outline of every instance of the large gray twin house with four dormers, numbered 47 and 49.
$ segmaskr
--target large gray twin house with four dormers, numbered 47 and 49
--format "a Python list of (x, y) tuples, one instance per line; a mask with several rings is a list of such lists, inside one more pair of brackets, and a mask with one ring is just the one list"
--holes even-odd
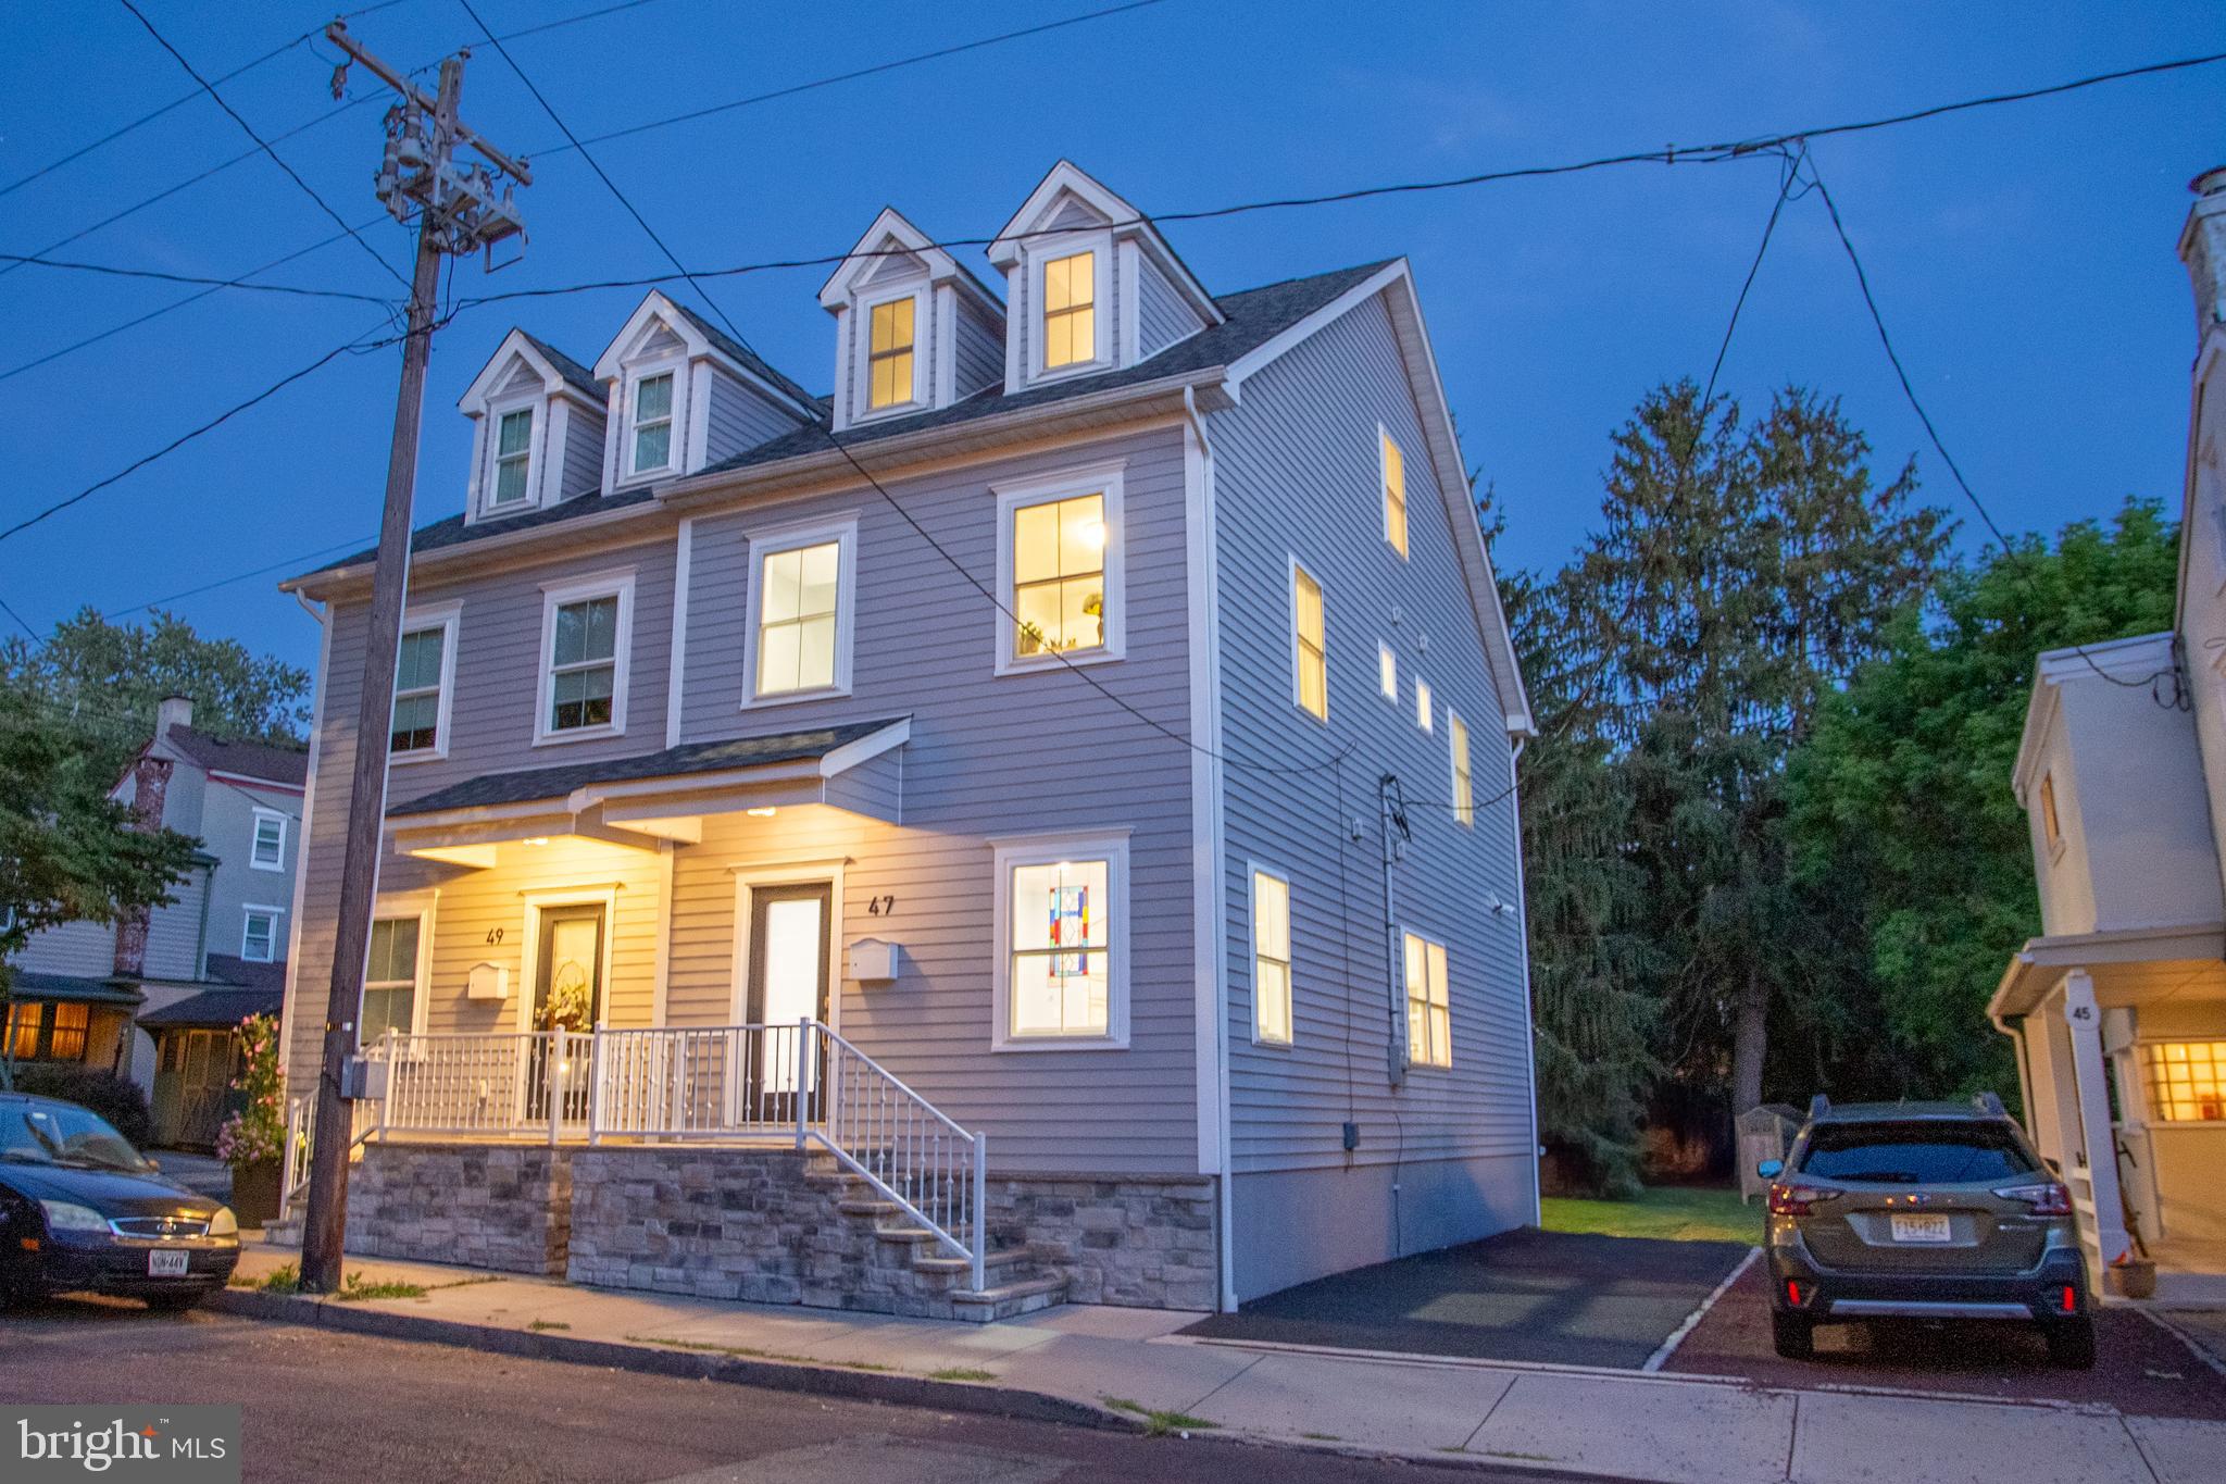
[[(1536, 1219), (1529, 712), (1405, 260), (1211, 294), (1062, 162), (988, 265), (881, 211), (819, 294), (828, 398), (663, 294), (465, 394), (354, 1250), (988, 1317)], [(287, 583), (325, 623), (296, 1088), (370, 567)]]

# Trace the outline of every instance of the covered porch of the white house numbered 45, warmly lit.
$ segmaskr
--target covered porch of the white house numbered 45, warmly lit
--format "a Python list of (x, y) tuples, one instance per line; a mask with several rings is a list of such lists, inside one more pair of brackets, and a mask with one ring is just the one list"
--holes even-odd
[(2146, 1255), (2159, 1299), (2226, 1299), (2226, 928), (2030, 939), (1988, 1015), (2095, 1277)]

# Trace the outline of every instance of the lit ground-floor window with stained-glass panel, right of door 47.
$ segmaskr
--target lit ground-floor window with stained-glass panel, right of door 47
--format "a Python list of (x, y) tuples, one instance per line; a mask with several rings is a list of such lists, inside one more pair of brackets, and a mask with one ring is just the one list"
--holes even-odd
[(993, 841), (993, 1046), (1129, 1043), (1129, 837)]

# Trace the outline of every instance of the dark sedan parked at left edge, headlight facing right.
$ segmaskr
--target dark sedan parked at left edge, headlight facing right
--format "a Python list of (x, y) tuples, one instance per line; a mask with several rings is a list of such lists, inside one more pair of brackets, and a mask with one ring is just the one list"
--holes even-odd
[(114, 1293), (191, 1308), (238, 1262), (232, 1210), (162, 1181), (96, 1112), (0, 1092), (0, 1302)]

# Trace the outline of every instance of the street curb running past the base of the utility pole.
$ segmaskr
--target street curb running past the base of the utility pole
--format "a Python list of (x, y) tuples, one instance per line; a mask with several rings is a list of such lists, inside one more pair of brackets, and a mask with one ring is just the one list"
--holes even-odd
[(1115, 1433), (1142, 1431), (1142, 1426), (1133, 1419), (1102, 1406), (1068, 1402), (1066, 1397), (1051, 1397), (1037, 1391), (984, 1386), (979, 1382), (935, 1382), (928, 1377), (895, 1375), (886, 1371), (815, 1366), (804, 1362), (759, 1359), (752, 1355), (668, 1351), (663, 1346), (628, 1344), (621, 1339), (577, 1339), (572, 1335), (556, 1335), (550, 1330), (512, 1330), (494, 1324), (434, 1319), (430, 1315), (398, 1315), (385, 1308), (334, 1304), (329, 1299), (307, 1295), (256, 1293), (252, 1288), (223, 1288), (211, 1293), (203, 1302), (203, 1308), (243, 1319), (265, 1319), (272, 1324), (301, 1324), (307, 1328), (374, 1335), (381, 1339), (452, 1344), (467, 1351), (487, 1351), (492, 1355), (554, 1359), (572, 1366), (603, 1366), (608, 1371), (663, 1375), (683, 1382), (728, 1382), (732, 1386), (795, 1391), (844, 1402), (924, 1406), (944, 1413), (977, 1413), (988, 1417), (1008, 1417), (1015, 1422), (1055, 1422), (1064, 1426), (1104, 1428)]

